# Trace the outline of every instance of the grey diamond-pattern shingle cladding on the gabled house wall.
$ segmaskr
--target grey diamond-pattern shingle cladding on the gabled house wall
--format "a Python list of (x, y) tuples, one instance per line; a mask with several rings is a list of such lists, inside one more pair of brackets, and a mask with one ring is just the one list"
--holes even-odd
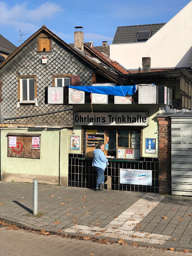
[[(67, 48), (61, 46), (52, 38), (52, 54), (45, 53), (48, 64), (42, 65), (42, 54), (37, 54), (37, 38), (34, 38), (24, 49), (17, 53), (0, 70), (2, 86), (2, 117), (14, 117), (34, 115), (50, 111), (69, 108), (68, 105), (45, 104), (45, 87), (52, 86), (52, 74), (72, 74), (80, 76), (80, 83), (91, 85), (93, 69), (73, 54)], [(38, 106), (20, 104), (16, 108), (18, 83), (17, 74), (37, 76), (37, 102)], [(45, 116), (30, 117), (24, 119), (13, 119), (5, 121), (14, 124), (35, 124), (35, 125), (72, 125), (72, 111), (59, 112)]]

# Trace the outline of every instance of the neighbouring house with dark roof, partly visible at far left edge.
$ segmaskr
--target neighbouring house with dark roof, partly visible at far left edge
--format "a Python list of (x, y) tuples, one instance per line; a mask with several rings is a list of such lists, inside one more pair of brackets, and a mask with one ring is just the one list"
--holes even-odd
[(9, 40), (0, 34), (0, 63), (2, 63), (13, 51), (16, 50)]

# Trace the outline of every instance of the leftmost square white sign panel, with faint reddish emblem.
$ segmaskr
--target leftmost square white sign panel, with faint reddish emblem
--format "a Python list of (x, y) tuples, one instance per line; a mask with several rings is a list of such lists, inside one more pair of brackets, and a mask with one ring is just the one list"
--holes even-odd
[(63, 104), (63, 87), (48, 87), (48, 104)]

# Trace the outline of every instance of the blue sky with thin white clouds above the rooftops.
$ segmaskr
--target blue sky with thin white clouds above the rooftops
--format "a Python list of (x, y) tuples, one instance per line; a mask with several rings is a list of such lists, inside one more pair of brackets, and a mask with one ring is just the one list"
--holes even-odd
[(20, 45), (45, 25), (68, 44), (74, 27), (83, 27), (84, 42), (112, 44), (119, 26), (166, 23), (190, 0), (0, 0), (0, 34)]

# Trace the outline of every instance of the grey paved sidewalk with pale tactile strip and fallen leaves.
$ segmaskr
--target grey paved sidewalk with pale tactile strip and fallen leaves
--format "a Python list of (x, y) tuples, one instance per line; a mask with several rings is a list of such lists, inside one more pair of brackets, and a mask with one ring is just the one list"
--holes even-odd
[[(32, 229), (192, 252), (192, 198), (152, 193), (0, 182), (0, 220)], [(162, 218), (163, 217), (163, 218)]]

